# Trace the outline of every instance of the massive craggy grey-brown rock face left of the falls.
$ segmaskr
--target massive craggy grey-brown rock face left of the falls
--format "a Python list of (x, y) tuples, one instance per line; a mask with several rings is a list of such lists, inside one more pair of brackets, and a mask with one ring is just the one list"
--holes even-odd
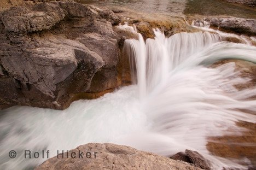
[(111, 10), (74, 2), (1, 13), (0, 109), (65, 109), (119, 86), (120, 38), (112, 28), (118, 20)]

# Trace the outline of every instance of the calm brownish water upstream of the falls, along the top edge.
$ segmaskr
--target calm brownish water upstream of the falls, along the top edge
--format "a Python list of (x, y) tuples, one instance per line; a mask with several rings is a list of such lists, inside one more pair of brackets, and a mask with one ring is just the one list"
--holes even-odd
[(256, 8), (243, 4), (227, 3), (223, 0), (81, 0), (84, 4), (94, 4), (114, 9), (130, 9), (139, 13), (158, 13), (171, 16), (224, 15), (256, 18)]

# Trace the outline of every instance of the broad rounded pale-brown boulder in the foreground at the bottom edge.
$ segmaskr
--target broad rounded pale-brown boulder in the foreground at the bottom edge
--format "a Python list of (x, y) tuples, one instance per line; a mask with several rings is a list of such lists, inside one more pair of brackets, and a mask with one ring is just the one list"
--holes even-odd
[[(83, 152), (82, 157), (71, 158), (71, 153), (76, 155)], [(95, 154), (95, 152), (97, 152)], [(86, 157), (86, 153), (90, 153)], [(129, 146), (121, 146), (115, 144), (96, 144), (89, 143), (79, 146), (78, 148), (64, 154), (64, 158), (59, 155), (45, 161), (42, 165), (38, 166), (36, 170), (58, 170), (58, 169), (147, 169), (147, 170), (169, 170), (169, 169), (200, 169), (189, 165), (183, 161), (174, 161), (167, 157), (159, 156), (153, 153), (147, 153), (133, 149)]]

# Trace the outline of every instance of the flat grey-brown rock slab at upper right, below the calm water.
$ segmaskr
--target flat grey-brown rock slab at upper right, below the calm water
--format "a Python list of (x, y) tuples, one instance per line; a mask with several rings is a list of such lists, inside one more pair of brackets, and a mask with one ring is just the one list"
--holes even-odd
[(211, 27), (219, 28), (221, 31), (231, 31), (235, 33), (248, 34), (249, 36), (256, 35), (256, 19), (242, 18), (212, 18), (210, 19)]

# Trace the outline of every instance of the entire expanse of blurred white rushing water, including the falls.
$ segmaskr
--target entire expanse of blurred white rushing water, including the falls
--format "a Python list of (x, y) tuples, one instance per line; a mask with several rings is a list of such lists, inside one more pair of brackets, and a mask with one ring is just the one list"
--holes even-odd
[[(136, 33), (134, 27), (119, 28)], [(234, 84), (248, 79), (240, 78), (234, 63), (207, 66), (222, 58), (256, 63), (256, 48), (219, 42), (222, 37), (208, 32), (170, 38), (159, 30), (154, 32), (155, 39), (146, 43), (140, 34), (138, 40), (125, 42), (124, 52), (135, 57), (138, 85), (91, 101), (73, 102), (63, 111), (31, 107), (2, 110), (1, 169), (27, 169), (44, 161), (24, 161), (24, 150), (50, 150), (55, 156), (56, 150), (88, 142), (126, 144), (165, 156), (197, 150), (211, 160), (213, 169), (246, 168), (212, 156), (205, 146), (206, 137), (240, 134), (244, 129), (235, 126), (237, 120), (255, 123), (255, 115), (239, 109), (255, 111), (256, 101), (247, 98), (256, 95), (256, 89), (235, 89)], [(18, 151), (19, 157), (9, 159), (10, 150)]]

